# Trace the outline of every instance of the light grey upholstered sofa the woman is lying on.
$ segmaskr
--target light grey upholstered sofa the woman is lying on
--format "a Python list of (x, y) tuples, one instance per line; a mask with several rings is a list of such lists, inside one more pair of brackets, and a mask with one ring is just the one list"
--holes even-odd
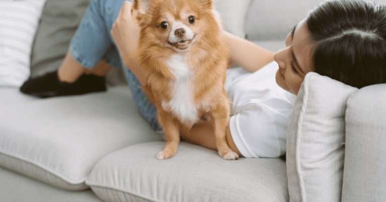
[[(242, 14), (245, 36), (277, 51), (320, 2), (252, 0)], [(0, 201), (290, 201), (282, 159), (225, 161), (181, 142), (175, 157), (156, 160), (162, 134), (150, 129), (118, 79), (111, 76), (107, 92), (48, 99), (0, 88)], [(377, 85), (356, 91), (347, 104), (351, 125), (338, 187), (344, 202), (386, 201), (384, 100), (386, 86)]]

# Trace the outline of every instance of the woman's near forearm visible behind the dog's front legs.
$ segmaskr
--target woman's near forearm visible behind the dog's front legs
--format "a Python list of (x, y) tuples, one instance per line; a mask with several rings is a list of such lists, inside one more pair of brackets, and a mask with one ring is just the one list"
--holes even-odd
[[(181, 133), (181, 138), (188, 143), (203, 146), (208, 149), (217, 150), (215, 133), (213, 131), (212, 124), (208, 121), (200, 121), (195, 124), (193, 128), (186, 134)], [(227, 127), (227, 143), (232, 151), (242, 156), (233, 142), (229, 127)]]

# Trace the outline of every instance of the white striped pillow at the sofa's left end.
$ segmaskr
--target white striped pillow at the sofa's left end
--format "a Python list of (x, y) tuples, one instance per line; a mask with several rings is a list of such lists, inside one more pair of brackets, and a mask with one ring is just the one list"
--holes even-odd
[(32, 42), (44, 3), (0, 1), (0, 87), (19, 87), (29, 77)]

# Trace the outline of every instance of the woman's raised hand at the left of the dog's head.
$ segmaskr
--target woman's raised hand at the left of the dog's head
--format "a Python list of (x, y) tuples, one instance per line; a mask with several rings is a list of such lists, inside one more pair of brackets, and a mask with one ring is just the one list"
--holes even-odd
[(132, 15), (131, 6), (130, 2), (125, 1), (111, 30), (111, 36), (121, 54), (121, 58), (128, 67), (131, 60), (137, 59), (134, 55), (139, 41), (136, 13), (133, 12)]

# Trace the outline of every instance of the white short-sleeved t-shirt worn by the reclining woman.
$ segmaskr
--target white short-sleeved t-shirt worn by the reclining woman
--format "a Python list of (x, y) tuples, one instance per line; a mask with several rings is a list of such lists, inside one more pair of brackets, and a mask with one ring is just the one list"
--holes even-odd
[(254, 73), (241, 68), (227, 72), (225, 88), (232, 100), (229, 127), (244, 157), (285, 154), (288, 119), (296, 96), (276, 84), (277, 68), (271, 62)]

